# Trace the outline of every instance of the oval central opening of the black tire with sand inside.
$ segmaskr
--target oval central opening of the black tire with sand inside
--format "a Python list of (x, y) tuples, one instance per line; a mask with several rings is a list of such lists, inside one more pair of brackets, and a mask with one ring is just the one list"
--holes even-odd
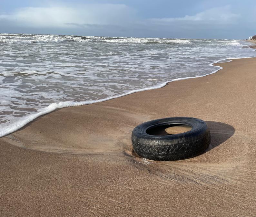
[(151, 127), (146, 130), (146, 133), (152, 136), (167, 136), (167, 135), (185, 133), (191, 129), (192, 127), (186, 124), (166, 124), (166, 125)]

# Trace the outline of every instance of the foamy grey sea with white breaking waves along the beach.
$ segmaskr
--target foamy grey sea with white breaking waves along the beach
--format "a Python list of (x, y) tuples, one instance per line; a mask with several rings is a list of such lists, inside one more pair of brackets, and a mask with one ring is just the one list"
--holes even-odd
[(255, 57), (249, 45), (227, 39), (1, 33), (0, 137), (57, 108), (215, 73), (221, 67), (213, 63)]

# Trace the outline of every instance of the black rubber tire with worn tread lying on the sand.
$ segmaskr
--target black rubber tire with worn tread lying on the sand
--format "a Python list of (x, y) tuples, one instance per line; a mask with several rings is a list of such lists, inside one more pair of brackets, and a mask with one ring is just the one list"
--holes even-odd
[[(155, 136), (146, 133), (148, 129), (168, 124), (185, 124), (191, 130), (166, 136)], [(163, 118), (138, 125), (132, 132), (134, 151), (141, 157), (150, 160), (182, 160), (201, 154), (211, 142), (207, 124), (197, 118)]]

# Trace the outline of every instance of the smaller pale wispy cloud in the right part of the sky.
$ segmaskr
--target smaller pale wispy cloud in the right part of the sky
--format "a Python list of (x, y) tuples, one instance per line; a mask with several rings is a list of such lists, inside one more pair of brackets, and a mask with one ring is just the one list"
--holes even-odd
[[(206, 11), (200, 12), (198, 14), (189, 16), (186, 15), (184, 17), (177, 17), (177, 18), (160, 18), (160, 19), (151, 19), (153, 22), (158, 23), (175, 23), (179, 21), (188, 22), (188, 23), (209, 23), (212, 24), (213, 22), (216, 24), (227, 24), (232, 23), (234, 20), (240, 17), (240, 14), (234, 14), (230, 10), (230, 6), (224, 7), (215, 7), (208, 9)], [(214, 24), (213, 23), (213, 24)]]

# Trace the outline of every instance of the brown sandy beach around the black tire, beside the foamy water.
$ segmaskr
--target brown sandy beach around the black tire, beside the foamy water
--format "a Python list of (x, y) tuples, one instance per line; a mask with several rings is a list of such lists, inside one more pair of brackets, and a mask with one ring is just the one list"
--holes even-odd
[[(218, 65), (206, 77), (54, 111), (0, 138), (0, 215), (255, 216), (256, 58)], [(205, 153), (175, 162), (133, 154), (136, 125), (175, 116), (207, 121)]]

